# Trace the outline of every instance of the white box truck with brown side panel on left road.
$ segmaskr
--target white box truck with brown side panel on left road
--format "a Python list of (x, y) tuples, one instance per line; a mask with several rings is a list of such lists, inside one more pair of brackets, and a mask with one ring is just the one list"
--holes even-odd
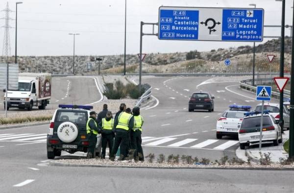
[[(4, 92), (6, 92), (4, 90)], [(5, 98), (4, 95), (4, 109)], [(19, 73), (18, 90), (7, 91), (7, 110), (20, 108), (32, 110), (33, 106), (45, 109), (51, 98), (50, 73)]]

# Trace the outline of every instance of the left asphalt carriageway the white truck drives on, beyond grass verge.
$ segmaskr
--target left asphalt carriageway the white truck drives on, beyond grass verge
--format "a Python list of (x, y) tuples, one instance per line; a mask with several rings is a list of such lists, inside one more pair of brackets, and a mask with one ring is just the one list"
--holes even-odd
[[(56, 109), (58, 104), (89, 104), (98, 101), (99, 95), (95, 79), (89, 76), (52, 77), (50, 104), (46, 109)], [(2, 93), (3, 96), (5, 93)], [(86, 97), (85, 97), (86, 96)], [(3, 97), (0, 100), (0, 114), (5, 112)], [(40, 111), (33, 107), (32, 111)], [(10, 108), (8, 113), (27, 112), (26, 109)]]

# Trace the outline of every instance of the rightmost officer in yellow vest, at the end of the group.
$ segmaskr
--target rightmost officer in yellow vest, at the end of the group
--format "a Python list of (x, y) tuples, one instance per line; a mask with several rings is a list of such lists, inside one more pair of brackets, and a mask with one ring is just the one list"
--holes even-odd
[(143, 117), (140, 115), (140, 108), (133, 108), (133, 116), (134, 116), (134, 127), (131, 130), (131, 141), (132, 148), (135, 149), (134, 159), (135, 161), (144, 161), (144, 154), (142, 149), (142, 126), (144, 123)]

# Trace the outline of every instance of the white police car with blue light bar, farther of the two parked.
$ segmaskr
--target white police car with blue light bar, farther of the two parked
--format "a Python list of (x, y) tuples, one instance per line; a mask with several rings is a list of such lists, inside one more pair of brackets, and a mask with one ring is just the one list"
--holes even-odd
[(244, 118), (244, 113), (251, 109), (251, 106), (230, 105), (217, 121), (217, 138), (222, 136), (238, 137), (238, 131)]

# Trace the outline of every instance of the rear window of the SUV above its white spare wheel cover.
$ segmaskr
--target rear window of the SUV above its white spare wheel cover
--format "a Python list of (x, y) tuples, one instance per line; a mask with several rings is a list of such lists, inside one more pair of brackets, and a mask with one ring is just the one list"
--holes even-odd
[(57, 111), (55, 121), (71, 121), (76, 124), (86, 124), (87, 112), (85, 111)]

